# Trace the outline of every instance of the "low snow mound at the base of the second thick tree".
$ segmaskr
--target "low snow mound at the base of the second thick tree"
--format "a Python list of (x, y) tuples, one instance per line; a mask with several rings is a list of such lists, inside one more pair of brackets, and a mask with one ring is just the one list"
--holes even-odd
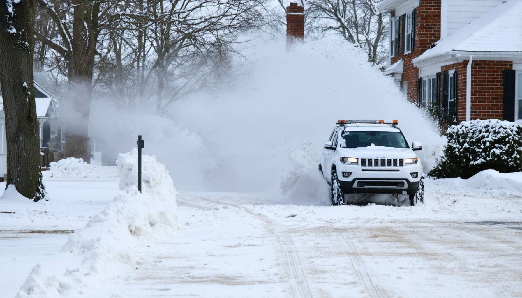
[(51, 162), (49, 171), (43, 171), (44, 178), (111, 178), (118, 176), (115, 166), (94, 166), (81, 158), (66, 158)]

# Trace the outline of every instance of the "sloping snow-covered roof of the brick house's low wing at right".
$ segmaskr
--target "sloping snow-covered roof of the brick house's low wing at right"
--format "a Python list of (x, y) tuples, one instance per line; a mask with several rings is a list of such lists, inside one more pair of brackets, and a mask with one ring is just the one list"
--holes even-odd
[(413, 63), (459, 52), (522, 53), (522, 0), (508, 0), (413, 59)]

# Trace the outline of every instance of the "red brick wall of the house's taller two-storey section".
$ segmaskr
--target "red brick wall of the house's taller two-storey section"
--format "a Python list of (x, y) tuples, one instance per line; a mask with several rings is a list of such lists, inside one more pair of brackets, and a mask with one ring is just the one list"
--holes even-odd
[[(392, 57), (392, 64), (399, 61), (399, 59), (404, 59), (404, 72), (402, 73), (400, 84), (402, 86), (404, 81), (408, 81), (407, 94), (411, 102), (417, 102), (417, 83), (419, 79), (419, 69), (414, 67), (411, 61), (428, 50), (434, 42), (441, 39), (441, 0), (420, 0), (420, 4), (416, 8), (416, 14), (417, 23), (413, 51), (406, 55), (400, 53)], [(395, 11), (392, 12), (392, 17), (395, 17)], [(399, 29), (399, 32), (402, 32), (402, 28)]]

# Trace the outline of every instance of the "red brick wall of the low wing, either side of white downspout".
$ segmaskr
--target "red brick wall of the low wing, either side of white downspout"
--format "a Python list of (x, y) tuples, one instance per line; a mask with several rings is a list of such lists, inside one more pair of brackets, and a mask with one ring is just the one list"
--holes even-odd
[[(442, 71), (458, 73), (457, 121), (466, 120), (466, 74), (468, 61), (446, 65)], [(478, 60), (471, 64), (471, 120), (502, 119), (504, 103), (504, 69), (512, 69), (512, 61)]]

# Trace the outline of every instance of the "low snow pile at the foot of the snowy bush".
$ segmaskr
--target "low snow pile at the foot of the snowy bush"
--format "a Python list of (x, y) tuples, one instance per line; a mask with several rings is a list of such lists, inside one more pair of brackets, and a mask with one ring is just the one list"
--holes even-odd
[(521, 197), (522, 172), (499, 173), (495, 170), (484, 170), (469, 179), (445, 178), (433, 180), (428, 178), (432, 185), (447, 189), (448, 192), (465, 195), (480, 195), (493, 197)]

